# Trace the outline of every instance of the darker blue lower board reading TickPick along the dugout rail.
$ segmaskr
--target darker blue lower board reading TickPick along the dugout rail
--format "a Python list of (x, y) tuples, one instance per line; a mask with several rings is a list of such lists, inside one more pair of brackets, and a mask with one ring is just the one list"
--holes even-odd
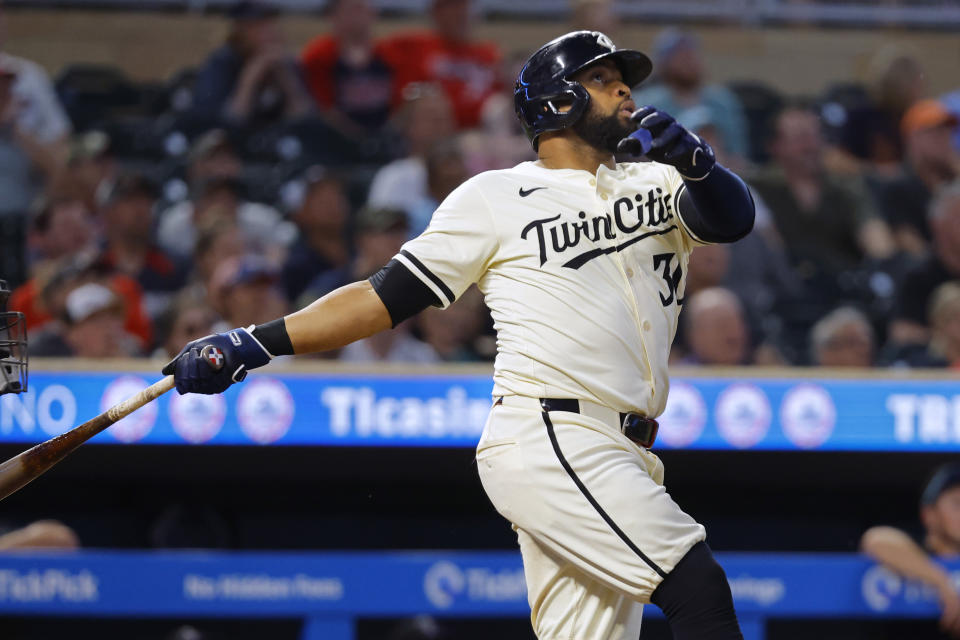
[[(770, 617), (933, 618), (939, 611), (933, 591), (854, 554), (721, 553), (718, 559), (747, 637), (762, 637), (762, 621)], [(960, 564), (947, 569), (960, 584)], [(0, 616), (283, 616), (349, 622), (415, 614), (529, 615), (519, 554), (0, 555)], [(645, 614), (660, 612), (647, 607)], [(349, 627), (340, 627), (338, 640), (351, 637)], [(329, 633), (330, 627), (324, 628)]]

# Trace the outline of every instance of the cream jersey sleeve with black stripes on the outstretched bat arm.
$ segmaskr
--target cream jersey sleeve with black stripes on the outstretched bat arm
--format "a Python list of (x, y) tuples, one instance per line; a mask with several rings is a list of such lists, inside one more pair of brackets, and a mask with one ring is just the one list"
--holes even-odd
[(478, 179), (460, 185), (440, 204), (426, 230), (395, 259), (448, 307), (480, 280), (499, 246), (492, 211)]

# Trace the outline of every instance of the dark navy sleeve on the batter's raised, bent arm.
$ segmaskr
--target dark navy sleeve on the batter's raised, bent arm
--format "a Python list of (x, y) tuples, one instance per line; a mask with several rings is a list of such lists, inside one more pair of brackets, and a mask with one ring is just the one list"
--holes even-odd
[(698, 240), (735, 242), (753, 229), (750, 189), (726, 167), (718, 164), (702, 180), (684, 180), (683, 186), (677, 212)]

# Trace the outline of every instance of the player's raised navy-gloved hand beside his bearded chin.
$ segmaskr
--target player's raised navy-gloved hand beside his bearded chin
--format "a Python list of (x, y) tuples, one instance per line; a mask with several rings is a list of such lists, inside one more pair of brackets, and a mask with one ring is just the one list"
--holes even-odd
[(637, 130), (620, 141), (618, 151), (646, 155), (661, 164), (676, 167), (684, 178), (700, 180), (717, 163), (713, 149), (690, 133), (673, 116), (654, 107), (637, 109), (630, 116)]

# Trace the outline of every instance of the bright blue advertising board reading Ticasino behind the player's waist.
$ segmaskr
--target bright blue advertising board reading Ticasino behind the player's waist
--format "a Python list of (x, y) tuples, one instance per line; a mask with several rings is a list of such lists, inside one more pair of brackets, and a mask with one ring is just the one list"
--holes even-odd
[[(0, 397), (0, 442), (46, 440), (156, 377), (34, 372)], [(489, 374), (268, 370), (219, 396), (168, 393), (93, 442), (473, 447), (491, 389)], [(660, 449), (960, 451), (960, 378), (681, 375), (659, 420)]]

